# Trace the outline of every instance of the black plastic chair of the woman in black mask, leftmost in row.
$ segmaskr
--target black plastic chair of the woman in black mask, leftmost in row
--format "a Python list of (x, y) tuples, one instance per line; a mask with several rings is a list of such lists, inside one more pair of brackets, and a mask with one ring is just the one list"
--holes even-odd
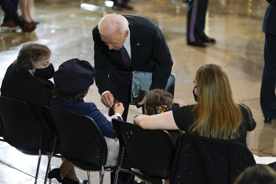
[[(44, 137), (40, 123), (23, 101), (0, 96), (0, 126), (1, 141), (9, 143), (20, 152), (27, 155), (38, 155), (35, 184), (39, 174), (41, 155), (49, 156), (49, 152), (41, 151)], [(49, 168), (50, 169), (50, 168)]]

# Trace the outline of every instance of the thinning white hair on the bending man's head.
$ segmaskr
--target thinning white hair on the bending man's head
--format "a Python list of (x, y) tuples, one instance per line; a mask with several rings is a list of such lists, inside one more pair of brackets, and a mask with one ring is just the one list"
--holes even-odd
[(98, 24), (100, 34), (105, 36), (112, 34), (116, 30), (123, 36), (128, 27), (129, 22), (127, 19), (117, 14), (108, 14), (104, 16)]

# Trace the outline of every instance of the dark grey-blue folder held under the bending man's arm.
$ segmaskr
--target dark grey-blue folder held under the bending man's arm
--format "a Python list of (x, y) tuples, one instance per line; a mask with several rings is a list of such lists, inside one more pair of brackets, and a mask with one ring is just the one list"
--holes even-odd
[[(131, 105), (136, 105), (137, 108), (141, 107), (137, 105), (143, 97), (145, 92), (149, 91), (152, 84), (152, 72), (132, 72), (132, 85), (131, 85)], [(175, 74), (170, 74), (165, 91), (174, 95), (175, 92)]]

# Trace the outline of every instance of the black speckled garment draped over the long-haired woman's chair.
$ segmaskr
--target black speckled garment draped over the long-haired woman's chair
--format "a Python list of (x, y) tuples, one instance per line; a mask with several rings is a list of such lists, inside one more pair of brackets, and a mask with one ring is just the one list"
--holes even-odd
[(232, 184), (254, 164), (250, 150), (233, 139), (184, 133), (177, 144), (170, 183)]

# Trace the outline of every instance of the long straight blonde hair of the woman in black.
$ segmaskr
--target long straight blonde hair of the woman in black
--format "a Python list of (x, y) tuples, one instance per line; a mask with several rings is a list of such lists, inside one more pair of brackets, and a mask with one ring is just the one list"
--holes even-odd
[(192, 110), (195, 122), (189, 133), (219, 139), (239, 137), (243, 116), (233, 99), (227, 74), (221, 66), (203, 64), (196, 72), (198, 104)]

